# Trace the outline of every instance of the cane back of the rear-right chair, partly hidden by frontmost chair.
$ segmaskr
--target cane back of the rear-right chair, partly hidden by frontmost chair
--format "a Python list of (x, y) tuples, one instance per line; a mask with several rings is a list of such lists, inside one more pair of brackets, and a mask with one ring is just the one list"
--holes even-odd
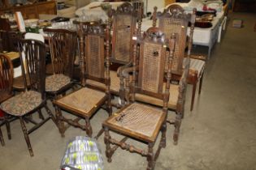
[(187, 47), (188, 42), (192, 44), (192, 40), (187, 41), (189, 21), (192, 25), (194, 24), (195, 14), (193, 13), (191, 15), (184, 13), (183, 8), (175, 4), (169, 6), (163, 11), (163, 13), (158, 12), (157, 15), (158, 27), (161, 29), (161, 31), (164, 32), (167, 37), (171, 37), (173, 33), (176, 34), (176, 49), (172, 61), (171, 71), (181, 74), (183, 70), (182, 64), (185, 48)]

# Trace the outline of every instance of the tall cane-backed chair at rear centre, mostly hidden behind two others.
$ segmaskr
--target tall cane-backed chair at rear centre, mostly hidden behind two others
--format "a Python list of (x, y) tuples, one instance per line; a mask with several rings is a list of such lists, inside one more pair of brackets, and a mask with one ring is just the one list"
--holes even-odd
[[(131, 66), (132, 35), (136, 31), (137, 12), (128, 2), (124, 2), (116, 11), (113, 10), (111, 12), (113, 30), (110, 57), (111, 94), (119, 96), (120, 81), (117, 72), (126, 67), (126, 65)], [(94, 81), (89, 81), (88, 83), (102, 89), (105, 87), (104, 84)]]

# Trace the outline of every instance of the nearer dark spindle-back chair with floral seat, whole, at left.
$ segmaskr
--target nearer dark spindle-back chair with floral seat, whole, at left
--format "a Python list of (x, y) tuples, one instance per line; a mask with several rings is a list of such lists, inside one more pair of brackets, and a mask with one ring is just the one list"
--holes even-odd
[[(20, 119), (20, 125), (28, 145), (28, 151), (30, 155), (33, 156), (33, 149), (28, 134), (37, 130), (37, 128), (50, 119), (52, 119), (55, 124), (56, 121), (46, 104), (46, 46), (37, 40), (20, 40), (19, 50), (25, 91), (2, 102), (1, 109), (5, 113)], [(24, 62), (26, 64), (24, 64)], [(25, 73), (28, 74), (30, 81), (29, 90)], [(30, 115), (35, 112), (41, 113), (41, 108), (46, 108), (46, 113), (49, 117), (45, 117), (41, 122), (36, 122)], [(34, 124), (30, 130), (26, 128), (25, 120)]]

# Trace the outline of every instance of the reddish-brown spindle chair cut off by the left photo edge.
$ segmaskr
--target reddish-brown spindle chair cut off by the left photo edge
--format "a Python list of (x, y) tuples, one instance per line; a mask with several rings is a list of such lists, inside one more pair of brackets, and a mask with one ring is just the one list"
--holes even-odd
[[(6, 55), (0, 53), (0, 104), (11, 98), (12, 96), (12, 83), (13, 83), (13, 66), (11, 59)], [(1, 109), (1, 108), (0, 108)], [(0, 110), (2, 112), (2, 110)], [(4, 146), (4, 140), (2, 137), (1, 126), (7, 125), (8, 138), (11, 139), (11, 130), (8, 117), (3, 113), (3, 117), (0, 117), (0, 141)]]

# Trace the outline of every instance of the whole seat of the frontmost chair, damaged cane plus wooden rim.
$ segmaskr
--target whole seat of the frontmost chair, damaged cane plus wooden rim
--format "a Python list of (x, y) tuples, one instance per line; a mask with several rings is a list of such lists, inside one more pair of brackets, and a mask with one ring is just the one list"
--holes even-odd
[(154, 142), (158, 134), (156, 132), (160, 130), (164, 117), (161, 108), (132, 103), (118, 113), (114, 113), (105, 121), (104, 125), (109, 125), (113, 130), (117, 129), (122, 134), (130, 137), (143, 138), (147, 142)]

